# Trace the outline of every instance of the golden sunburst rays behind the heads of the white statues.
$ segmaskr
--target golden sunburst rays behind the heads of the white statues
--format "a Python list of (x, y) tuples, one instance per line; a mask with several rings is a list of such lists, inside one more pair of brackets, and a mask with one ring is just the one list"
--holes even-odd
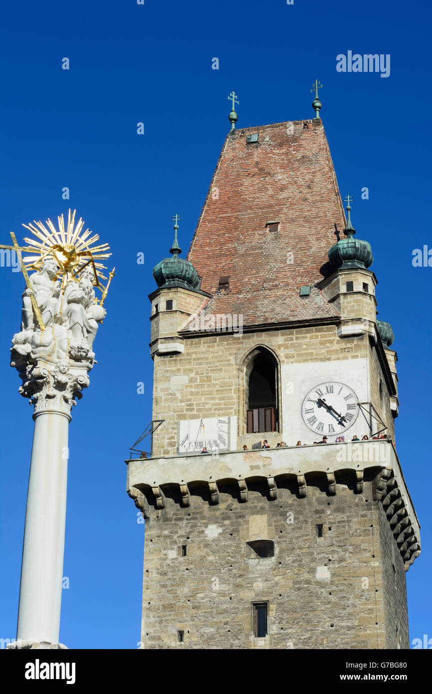
[[(78, 219), (75, 223), (76, 210), (67, 216), (67, 226), (64, 226), (63, 215), (58, 217), (58, 229), (51, 219), (45, 224), (35, 221), (23, 226), (31, 231), (35, 238), (25, 237), (27, 253), (23, 262), (27, 270), (39, 270), (47, 259), (54, 260), (58, 265), (57, 277), (61, 280), (61, 290), (64, 291), (67, 282), (72, 278), (76, 281), (80, 273), (87, 266), (91, 266), (94, 274), (94, 285), (104, 291), (105, 287), (100, 280), (107, 280), (103, 271), (106, 266), (101, 260), (106, 260), (111, 253), (108, 244), (98, 244), (99, 236), (88, 228), (83, 231), (84, 221)], [(45, 226), (46, 225), (46, 226)], [(35, 258), (34, 255), (37, 255)]]

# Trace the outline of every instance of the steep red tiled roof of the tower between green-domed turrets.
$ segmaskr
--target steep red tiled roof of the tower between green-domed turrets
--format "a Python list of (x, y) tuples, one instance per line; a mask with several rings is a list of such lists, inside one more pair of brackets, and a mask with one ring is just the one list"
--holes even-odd
[[(258, 144), (246, 144), (252, 133)], [(313, 287), (335, 225), (342, 232), (345, 217), (322, 121), (232, 131), (188, 254), (213, 295), (206, 314), (243, 314), (243, 325), (338, 316)], [(221, 276), (230, 277), (228, 292), (218, 291)], [(310, 298), (299, 297), (302, 285), (312, 285)]]

